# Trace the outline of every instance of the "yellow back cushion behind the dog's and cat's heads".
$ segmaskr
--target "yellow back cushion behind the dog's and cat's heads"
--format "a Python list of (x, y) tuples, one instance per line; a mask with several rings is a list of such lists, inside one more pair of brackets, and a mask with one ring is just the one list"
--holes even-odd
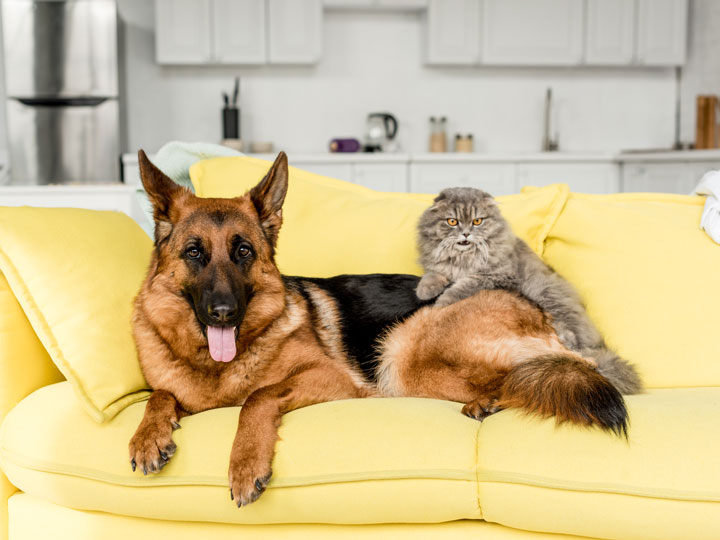
[[(267, 173), (270, 162), (214, 158), (190, 168), (201, 197), (236, 197)], [(518, 236), (541, 253), (567, 198), (558, 184), (498, 197)], [(415, 246), (420, 214), (434, 195), (382, 193), (290, 167), (277, 263), (285, 274), (327, 277), (374, 272), (421, 274)]]

